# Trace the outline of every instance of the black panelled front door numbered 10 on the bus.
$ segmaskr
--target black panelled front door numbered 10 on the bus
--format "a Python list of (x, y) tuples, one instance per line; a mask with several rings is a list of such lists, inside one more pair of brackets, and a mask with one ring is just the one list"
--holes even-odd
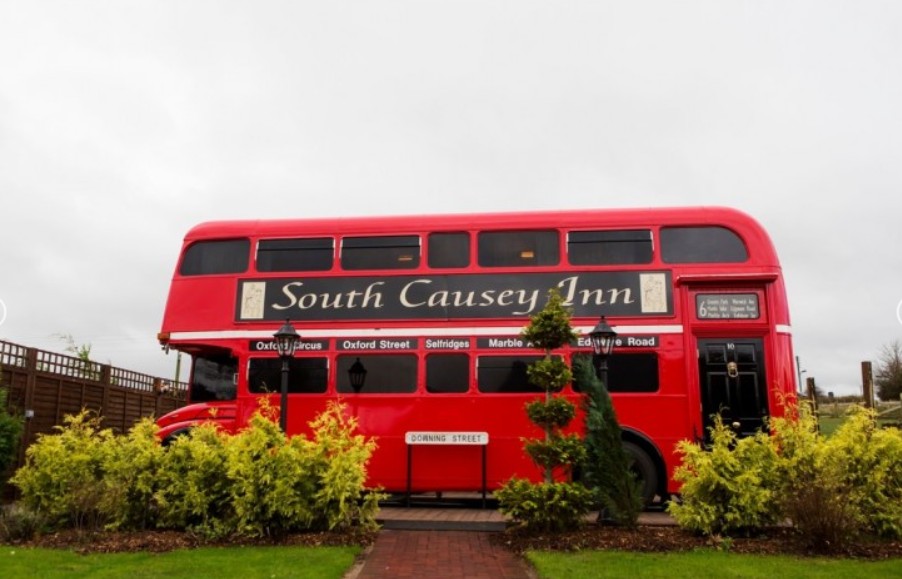
[(740, 435), (761, 428), (769, 412), (760, 338), (699, 340), (698, 374), (705, 440), (718, 413)]

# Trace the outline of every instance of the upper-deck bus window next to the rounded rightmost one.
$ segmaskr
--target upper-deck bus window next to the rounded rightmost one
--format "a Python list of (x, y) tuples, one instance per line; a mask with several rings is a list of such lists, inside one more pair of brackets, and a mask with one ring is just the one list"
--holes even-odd
[(651, 231), (571, 231), (567, 255), (573, 265), (651, 263)]

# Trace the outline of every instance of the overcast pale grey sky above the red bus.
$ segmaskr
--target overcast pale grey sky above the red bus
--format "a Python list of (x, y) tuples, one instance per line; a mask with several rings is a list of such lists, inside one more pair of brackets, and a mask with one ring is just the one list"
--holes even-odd
[(215, 219), (726, 205), (825, 390), (902, 338), (902, 2), (0, 0), (0, 340), (171, 376)]

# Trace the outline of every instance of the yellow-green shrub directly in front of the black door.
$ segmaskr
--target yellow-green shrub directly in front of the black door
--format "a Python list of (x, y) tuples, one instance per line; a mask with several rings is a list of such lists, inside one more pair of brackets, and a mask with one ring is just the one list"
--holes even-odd
[(674, 479), (682, 483), (682, 502), (668, 512), (683, 528), (705, 535), (750, 533), (779, 520), (774, 473), (775, 452), (768, 436), (737, 439), (716, 417), (711, 449), (682, 441)]

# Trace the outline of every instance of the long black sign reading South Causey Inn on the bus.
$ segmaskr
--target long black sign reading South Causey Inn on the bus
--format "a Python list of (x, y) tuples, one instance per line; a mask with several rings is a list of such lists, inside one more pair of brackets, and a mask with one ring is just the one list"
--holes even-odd
[(239, 280), (239, 321), (468, 319), (522, 317), (557, 288), (575, 316), (657, 316), (673, 312), (669, 272)]

